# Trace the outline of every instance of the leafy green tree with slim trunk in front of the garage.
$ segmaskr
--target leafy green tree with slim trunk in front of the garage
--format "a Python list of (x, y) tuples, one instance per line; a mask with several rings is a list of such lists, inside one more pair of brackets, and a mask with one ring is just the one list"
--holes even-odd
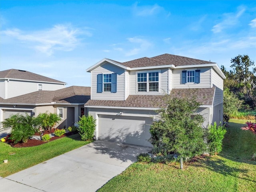
[(177, 98), (165, 95), (164, 101), (165, 106), (157, 111), (159, 121), (154, 121), (150, 127), (149, 141), (155, 154), (178, 154), (182, 169), (183, 158), (200, 155), (206, 149), (205, 131), (202, 128), (204, 118), (196, 114), (200, 106), (196, 96), (189, 98), (183, 95), (182, 98)]

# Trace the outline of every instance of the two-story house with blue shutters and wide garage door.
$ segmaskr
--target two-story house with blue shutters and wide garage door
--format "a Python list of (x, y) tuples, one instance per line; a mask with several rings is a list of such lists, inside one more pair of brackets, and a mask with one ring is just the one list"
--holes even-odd
[(191, 96), (202, 102), (204, 127), (222, 121), (224, 74), (214, 62), (163, 54), (128, 62), (103, 59), (91, 73), (91, 99), (85, 104), (96, 119), (96, 139), (152, 146), (150, 124), (163, 94)]

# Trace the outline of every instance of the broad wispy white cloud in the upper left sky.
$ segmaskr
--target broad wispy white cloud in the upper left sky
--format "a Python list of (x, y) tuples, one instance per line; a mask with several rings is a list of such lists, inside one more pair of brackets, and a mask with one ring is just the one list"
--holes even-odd
[(81, 31), (73, 28), (70, 24), (58, 24), (53, 28), (32, 32), (24, 32), (19, 29), (9, 29), (2, 31), (7, 36), (12, 36), (22, 43), (29, 44), (32, 48), (52, 55), (56, 50), (71, 51), (80, 43), (79, 35), (91, 36), (88, 31)]

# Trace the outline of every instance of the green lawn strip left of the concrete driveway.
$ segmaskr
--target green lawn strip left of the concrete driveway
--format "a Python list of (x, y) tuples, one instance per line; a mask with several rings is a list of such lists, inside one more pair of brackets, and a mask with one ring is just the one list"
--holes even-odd
[[(88, 143), (82, 141), (79, 134), (26, 148), (12, 148), (0, 142), (0, 176), (6, 177)], [(5, 159), (8, 159), (8, 163), (3, 162)]]

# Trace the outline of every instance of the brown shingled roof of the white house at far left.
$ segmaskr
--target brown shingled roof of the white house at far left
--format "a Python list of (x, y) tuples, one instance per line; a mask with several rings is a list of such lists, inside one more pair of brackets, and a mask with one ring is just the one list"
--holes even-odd
[(62, 81), (58, 81), (52, 78), (38, 75), (29, 71), (17, 70), (17, 69), (0, 71), (0, 79), (19, 79), (19, 80), (29, 80), (29, 81), (37, 81), (37, 82), (51, 82), (51, 83), (66, 84), (65, 82), (62, 82)]

